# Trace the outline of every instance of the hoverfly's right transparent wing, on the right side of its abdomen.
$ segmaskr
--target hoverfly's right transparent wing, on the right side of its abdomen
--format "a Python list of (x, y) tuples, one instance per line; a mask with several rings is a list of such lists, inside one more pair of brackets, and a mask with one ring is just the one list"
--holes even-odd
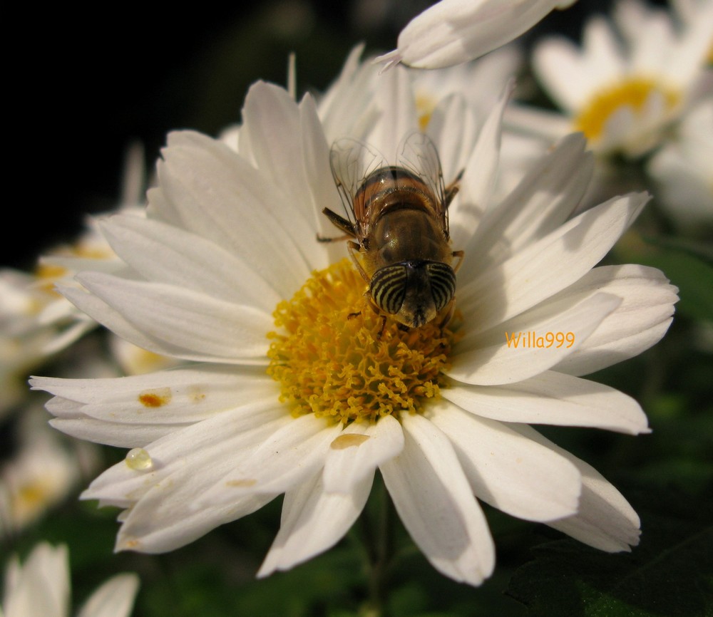
[(447, 234), (446, 185), (434, 142), (425, 133), (409, 133), (396, 150), (396, 165), (420, 177), (431, 189), (436, 197), (436, 216)]

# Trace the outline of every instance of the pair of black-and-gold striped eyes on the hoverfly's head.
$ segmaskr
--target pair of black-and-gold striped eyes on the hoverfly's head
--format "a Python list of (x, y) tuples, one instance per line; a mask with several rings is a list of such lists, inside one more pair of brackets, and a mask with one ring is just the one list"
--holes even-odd
[(443, 309), (456, 294), (456, 273), (438, 261), (404, 261), (385, 266), (371, 278), (369, 292), (374, 304), (389, 315), (401, 311), (407, 294), (409, 303)]

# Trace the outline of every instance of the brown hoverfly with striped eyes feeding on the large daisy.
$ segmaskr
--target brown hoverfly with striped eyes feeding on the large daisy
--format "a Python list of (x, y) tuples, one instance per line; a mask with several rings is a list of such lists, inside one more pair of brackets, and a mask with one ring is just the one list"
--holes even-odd
[(448, 234), (448, 204), (462, 172), (446, 187), (436, 146), (423, 133), (401, 142), (396, 165), (349, 139), (334, 143), (329, 160), (347, 217), (324, 208), (344, 236), (319, 239), (349, 240), (349, 255), (377, 313), (409, 328), (436, 318), (444, 326), (453, 314), (463, 258), (463, 251), (451, 249)]

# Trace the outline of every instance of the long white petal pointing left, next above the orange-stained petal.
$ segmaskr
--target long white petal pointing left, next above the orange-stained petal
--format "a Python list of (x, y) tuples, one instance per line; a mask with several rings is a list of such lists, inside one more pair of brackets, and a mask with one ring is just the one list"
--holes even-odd
[[(275, 327), (270, 313), (173, 285), (128, 281), (111, 274), (85, 273), (78, 280), (159, 345), (185, 350), (183, 357), (265, 361), (266, 335)], [(101, 315), (97, 318), (102, 321)]]

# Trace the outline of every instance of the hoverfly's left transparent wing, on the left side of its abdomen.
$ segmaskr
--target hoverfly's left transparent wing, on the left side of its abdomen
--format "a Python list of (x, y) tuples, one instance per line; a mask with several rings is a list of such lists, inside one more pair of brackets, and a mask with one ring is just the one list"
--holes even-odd
[(332, 145), (329, 152), (329, 165), (332, 167), (332, 176), (337, 185), (339, 196), (342, 197), (344, 212), (347, 219), (354, 223), (357, 239), (361, 239), (368, 232), (369, 220), (363, 195), (357, 198), (357, 193), (369, 175), (388, 163), (384, 155), (373, 146), (359, 140), (343, 138)]

